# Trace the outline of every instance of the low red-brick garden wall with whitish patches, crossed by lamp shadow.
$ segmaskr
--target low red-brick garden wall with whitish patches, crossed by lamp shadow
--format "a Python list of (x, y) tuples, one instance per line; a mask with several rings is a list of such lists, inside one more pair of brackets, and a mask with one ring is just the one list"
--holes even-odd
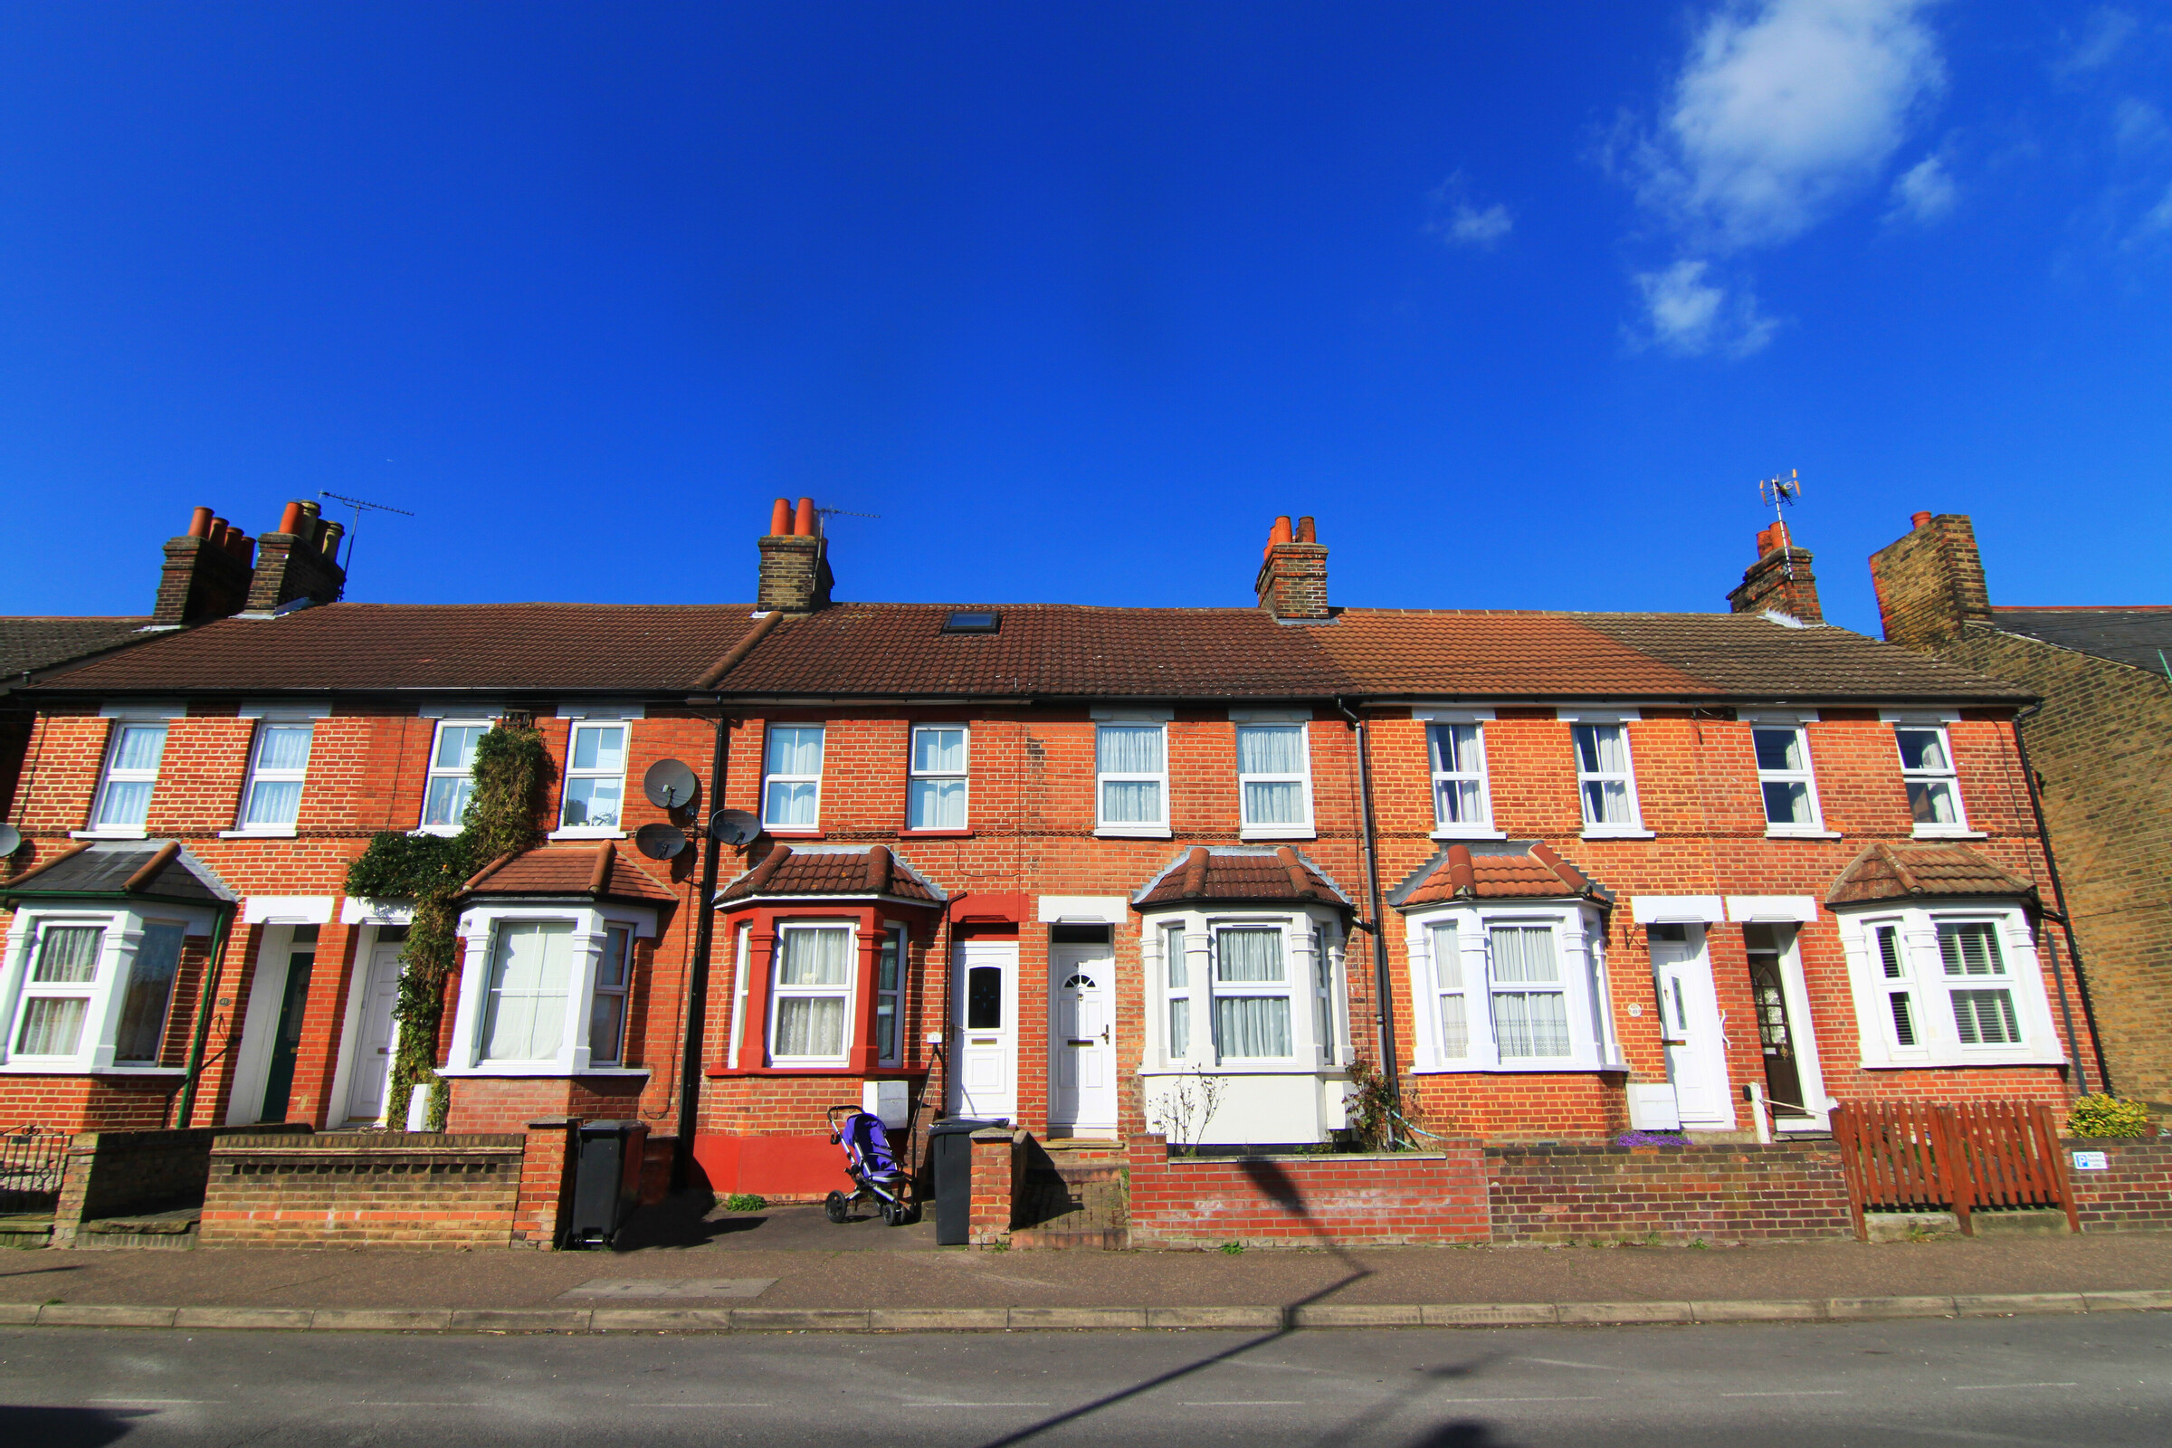
[(1477, 1142), (1440, 1153), (1171, 1157), (1129, 1142), (1134, 1246), (1401, 1246), (1486, 1242)]

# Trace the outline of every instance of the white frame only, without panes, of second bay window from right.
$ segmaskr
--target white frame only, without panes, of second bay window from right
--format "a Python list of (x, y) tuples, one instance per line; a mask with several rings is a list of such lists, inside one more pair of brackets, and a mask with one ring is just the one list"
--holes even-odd
[[(1457, 986), (1449, 986), (1434, 960), (1434, 927), (1455, 927)], [(1568, 1055), (1503, 1057), (1494, 1031), (1494, 994), (1512, 992), (1516, 981), (1494, 981), (1494, 927), (1546, 927), (1553, 931), (1553, 960), (1559, 970), (1562, 1007), (1568, 1016)], [(1418, 1075), (1455, 1072), (1566, 1072), (1625, 1070), (1620, 1042), (1614, 1033), (1612, 988), (1605, 960), (1605, 920), (1590, 905), (1544, 903), (1479, 903), (1414, 910), (1405, 916), (1410, 957), (1410, 1012), (1416, 1038)], [(1464, 996), (1466, 1051), (1451, 1057), (1440, 1029), (1440, 996)]]

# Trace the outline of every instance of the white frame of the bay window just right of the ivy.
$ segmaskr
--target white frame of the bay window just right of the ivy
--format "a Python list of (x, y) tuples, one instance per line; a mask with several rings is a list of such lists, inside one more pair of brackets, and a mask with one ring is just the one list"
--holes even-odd
[[(558, 923), (571, 925), (573, 960), (567, 975), (565, 1025), (558, 1031), (558, 1051), (541, 1062), (484, 1062), (482, 1025), (489, 1007), (491, 953), (497, 947), (502, 923)], [(645, 1066), (610, 1066), (591, 1059), (589, 1023), (595, 1009), (595, 977), (604, 962), (610, 927), (621, 925), (632, 955), (636, 940), (656, 938), (656, 912), (641, 905), (593, 903), (593, 901), (523, 901), (482, 903), (460, 912), (460, 994), (452, 1018), (452, 1059), (439, 1068), (443, 1077), (645, 1077)], [(634, 968), (626, 975), (628, 1001), (634, 992)], [(628, 1023), (619, 1027), (619, 1059), (626, 1059)], [(395, 1103), (395, 1112), (404, 1105)]]

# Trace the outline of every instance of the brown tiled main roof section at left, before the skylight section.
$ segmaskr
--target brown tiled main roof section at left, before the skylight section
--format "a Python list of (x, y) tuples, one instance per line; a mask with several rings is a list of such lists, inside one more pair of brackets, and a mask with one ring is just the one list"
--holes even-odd
[(328, 604), (167, 634), (48, 688), (684, 690), (752, 627), (745, 604)]

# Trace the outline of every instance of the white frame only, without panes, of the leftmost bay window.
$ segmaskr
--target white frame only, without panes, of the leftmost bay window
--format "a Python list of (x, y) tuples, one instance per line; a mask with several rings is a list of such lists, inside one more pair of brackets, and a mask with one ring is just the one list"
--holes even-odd
[[(96, 975), (80, 983), (35, 983), (30, 973), (43, 931), (70, 925), (104, 931)], [(211, 912), (174, 905), (146, 905), (141, 910), (46, 907), (35, 901), (17, 905), (7, 931), (7, 953), (0, 957), (0, 1007), (4, 1007), (0, 1009), (0, 1020), (7, 1025), (7, 1033), (0, 1036), (0, 1075), (185, 1075), (180, 1066), (115, 1059), (128, 977), (135, 970), (137, 953), (143, 949), (146, 929), (152, 925), (178, 925), (182, 951), (187, 951), (191, 936), (202, 938), (211, 933)], [(176, 966), (174, 988), (165, 999), (167, 1031), (172, 1029), (174, 999), (180, 994), (182, 970), (187, 970), (187, 957)], [(22, 1040), (26, 1003), (50, 996), (76, 996), (85, 1001), (83, 1033), (76, 1038), (76, 1049), (67, 1055), (20, 1055), (15, 1044)], [(163, 1040), (165, 1031), (161, 1031), (161, 1044)]]

